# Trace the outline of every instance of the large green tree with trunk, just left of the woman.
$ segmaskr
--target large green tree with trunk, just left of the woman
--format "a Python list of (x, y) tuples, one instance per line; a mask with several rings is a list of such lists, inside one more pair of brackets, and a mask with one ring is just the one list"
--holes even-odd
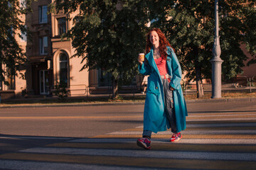
[(66, 35), (75, 47), (73, 57), (82, 57), (82, 69), (112, 73), (113, 98), (117, 97), (118, 82), (134, 78), (138, 54), (144, 51), (144, 1), (56, 0), (52, 7), (68, 16), (78, 11)]

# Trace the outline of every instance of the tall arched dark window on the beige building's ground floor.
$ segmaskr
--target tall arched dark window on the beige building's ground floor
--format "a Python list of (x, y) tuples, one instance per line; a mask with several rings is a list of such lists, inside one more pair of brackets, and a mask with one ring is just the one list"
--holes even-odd
[(68, 57), (64, 53), (60, 54), (60, 83), (68, 86)]

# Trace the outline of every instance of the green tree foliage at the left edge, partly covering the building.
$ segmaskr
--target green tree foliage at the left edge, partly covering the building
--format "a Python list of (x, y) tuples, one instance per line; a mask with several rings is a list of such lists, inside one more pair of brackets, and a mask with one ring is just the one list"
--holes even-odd
[(17, 71), (21, 64), (26, 62), (26, 56), (18, 45), (14, 35), (21, 37), (20, 30), (27, 33), (25, 23), (19, 16), (26, 14), (31, 10), (31, 0), (23, 1), (20, 4), (18, 0), (2, 0), (0, 2), (0, 81), (9, 85), (7, 77), (17, 76)]

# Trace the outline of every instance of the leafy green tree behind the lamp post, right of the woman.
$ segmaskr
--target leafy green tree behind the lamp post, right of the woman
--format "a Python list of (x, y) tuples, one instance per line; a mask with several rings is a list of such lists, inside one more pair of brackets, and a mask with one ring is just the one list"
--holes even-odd
[[(247, 59), (240, 49), (245, 43), (250, 54), (255, 50), (255, 0), (219, 1), (220, 8), (220, 58), (223, 79), (227, 80), (241, 73), (243, 61)], [(164, 4), (162, 1), (161, 3)], [(157, 4), (155, 5), (157, 6)], [(156, 7), (155, 7), (156, 8)], [(176, 49), (181, 67), (186, 77), (196, 79), (198, 97), (203, 96), (202, 79), (210, 79), (214, 39), (214, 1), (179, 0), (169, 3), (169, 8), (161, 12), (152, 8), (151, 16), (158, 18), (152, 25), (166, 33), (171, 45)], [(169, 17), (169, 20), (166, 18)], [(255, 62), (252, 60), (249, 64)]]

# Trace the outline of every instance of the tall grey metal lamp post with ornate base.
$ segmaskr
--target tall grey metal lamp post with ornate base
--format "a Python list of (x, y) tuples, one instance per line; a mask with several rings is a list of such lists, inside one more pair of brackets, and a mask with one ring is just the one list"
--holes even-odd
[(218, 33), (218, 0), (215, 0), (215, 38), (213, 44), (213, 58), (212, 63), (212, 96), (211, 98), (221, 98), (221, 64), (223, 60), (220, 59), (220, 36)]

